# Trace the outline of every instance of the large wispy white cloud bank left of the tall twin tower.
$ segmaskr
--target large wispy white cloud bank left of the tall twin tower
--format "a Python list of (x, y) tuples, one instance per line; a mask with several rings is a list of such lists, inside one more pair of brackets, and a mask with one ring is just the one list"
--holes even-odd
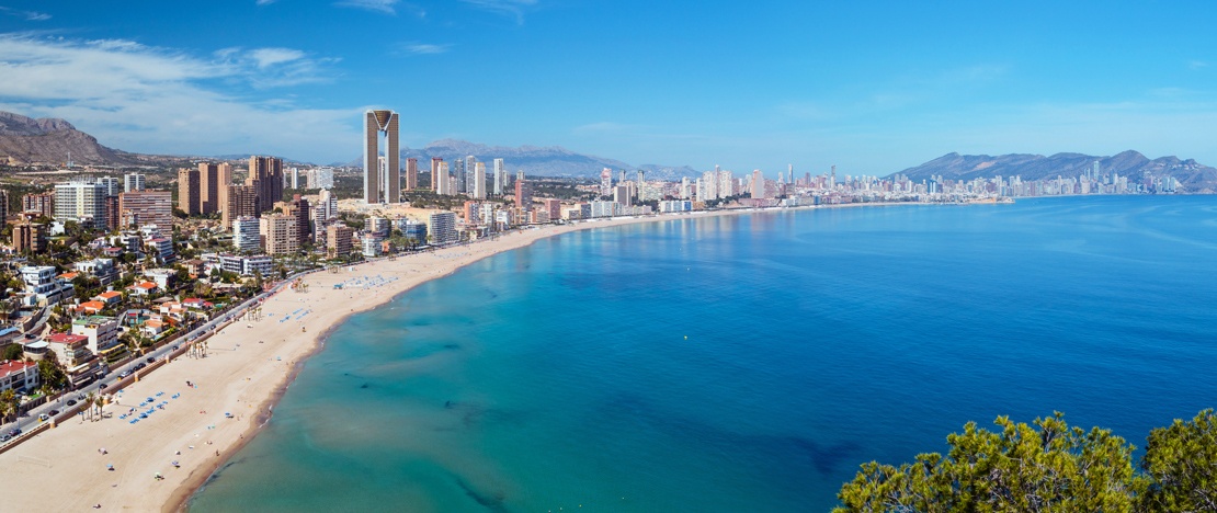
[(363, 107), (305, 108), (215, 86), (265, 85), (258, 75), (298, 83), (297, 64), (312, 60), (292, 52), (224, 49), (211, 60), (133, 41), (0, 35), (0, 109), (63, 118), (103, 145), (135, 152), (350, 158)]

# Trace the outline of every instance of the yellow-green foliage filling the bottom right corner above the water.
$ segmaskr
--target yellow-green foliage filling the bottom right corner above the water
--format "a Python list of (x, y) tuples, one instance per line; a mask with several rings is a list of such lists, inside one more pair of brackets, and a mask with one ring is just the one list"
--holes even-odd
[(1154, 429), (1142, 461), (1110, 430), (1084, 432), (1064, 415), (1034, 425), (998, 417), (968, 423), (950, 450), (899, 467), (870, 462), (846, 483), (835, 512), (1193, 512), (1217, 511), (1217, 417)]

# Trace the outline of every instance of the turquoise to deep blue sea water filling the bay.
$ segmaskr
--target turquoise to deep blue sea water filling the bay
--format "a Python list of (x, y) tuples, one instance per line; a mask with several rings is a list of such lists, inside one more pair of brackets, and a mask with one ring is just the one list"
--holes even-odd
[(191, 503), (824, 511), (870, 460), (1215, 406), (1217, 197), (682, 219), (497, 255), (350, 320)]

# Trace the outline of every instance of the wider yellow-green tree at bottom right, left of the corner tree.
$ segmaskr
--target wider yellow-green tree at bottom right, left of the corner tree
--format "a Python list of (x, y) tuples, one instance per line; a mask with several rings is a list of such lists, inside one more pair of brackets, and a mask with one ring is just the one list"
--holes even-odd
[(950, 450), (916, 463), (870, 462), (841, 487), (835, 512), (1132, 511), (1146, 479), (1134, 474), (1134, 447), (1110, 430), (1070, 428), (1064, 415), (1034, 427), (1008, 417), (999, 433), (970, 422), (947, 436)]

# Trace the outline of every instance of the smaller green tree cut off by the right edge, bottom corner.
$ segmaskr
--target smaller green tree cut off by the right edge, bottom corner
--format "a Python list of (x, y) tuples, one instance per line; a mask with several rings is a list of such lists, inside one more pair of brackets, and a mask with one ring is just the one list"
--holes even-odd
[(1205, 410), (1150, 432), (1142, 468), (1151, 479), (1144, 511), (1217, 511), (1217, 417)]

